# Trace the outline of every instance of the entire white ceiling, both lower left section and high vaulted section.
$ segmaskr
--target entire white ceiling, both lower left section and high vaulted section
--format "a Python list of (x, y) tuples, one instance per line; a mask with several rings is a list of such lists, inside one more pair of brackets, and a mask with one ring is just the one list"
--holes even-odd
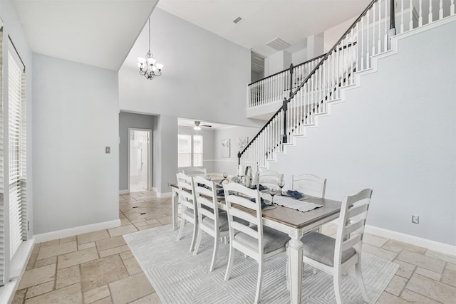
[[(147, 17), (160, 9), (269, 56), (279, 37), (302, 48), (304, 38), (363, 11), (368, 0), (13, 0), (31, 50), (118, 70)], [(242, 18), (238, 23), (234, 19)], [(141, 41), (140, 43), (147, 43)], [(144, 49), (147, 46), (144, 46)]]

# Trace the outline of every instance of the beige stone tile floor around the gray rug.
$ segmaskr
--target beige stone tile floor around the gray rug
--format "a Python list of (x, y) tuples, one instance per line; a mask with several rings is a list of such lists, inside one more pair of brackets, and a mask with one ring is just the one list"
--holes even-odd
[[(13, 303), (161, 303), (123, 234), (170, 224), (170, 199), (120, 195), (120, 220), (113, 229), (36, 243)], [(323, 226), (335, 232), (334, 224)], [(363, 251), (400, 265), (378, 304), (456, 303), (456, 256), (371, 234)]]

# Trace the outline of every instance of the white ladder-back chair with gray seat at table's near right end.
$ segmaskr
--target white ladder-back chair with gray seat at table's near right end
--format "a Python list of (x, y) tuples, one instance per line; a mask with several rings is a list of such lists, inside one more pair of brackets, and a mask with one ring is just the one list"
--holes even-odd
[(341, 275), (355, 266), (358, 285), (364, 300), (369, 301), (361, 271), (361, 251), (364, 227), (372, 189), (364, 189), (353, 196), (345, 196), (338, 219), (336, 239), (309, 232), (304, 234), (303, 262), (333, 276), (336, 303), (342, 303)]

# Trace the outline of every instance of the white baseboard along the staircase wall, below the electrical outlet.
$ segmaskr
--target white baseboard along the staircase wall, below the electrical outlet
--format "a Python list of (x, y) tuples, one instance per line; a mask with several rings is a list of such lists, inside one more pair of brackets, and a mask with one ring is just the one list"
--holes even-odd
[(433, 251), (439, 251), (441, 253), (450, 254), (456, 256), (456, 246), (452, 246), (446, 243), (439, 243), (436, 241), (418, 238), (418, 236), (410, 236), (409, 234), (401, 234), (400, 232), (378, 228), (371, 225), (366, 225), (365, 231), (368, 234), (375, 234), (375, 236), (382, 236), (386, 239), (394, 239), (396, 241), (403, 241), (410, 243), (415, 246), (424, 247)]

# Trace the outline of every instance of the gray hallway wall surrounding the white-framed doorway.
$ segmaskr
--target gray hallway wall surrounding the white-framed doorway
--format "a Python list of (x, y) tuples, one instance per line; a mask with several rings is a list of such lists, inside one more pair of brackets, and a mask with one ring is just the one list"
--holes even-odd
[[(128, 128), (154, 130), (155, 116), (136, 113), (120, 112), (119, 114), (119, 189), (128, 189)], [(150, 141), (152, 146), (153, 138)], [(151, 147), (153, 149), (153, 147)], [(152, 172), (153, 172), (153, 150), (152, 151)], [(153, 185), (153, 179), (152, 179)]]

